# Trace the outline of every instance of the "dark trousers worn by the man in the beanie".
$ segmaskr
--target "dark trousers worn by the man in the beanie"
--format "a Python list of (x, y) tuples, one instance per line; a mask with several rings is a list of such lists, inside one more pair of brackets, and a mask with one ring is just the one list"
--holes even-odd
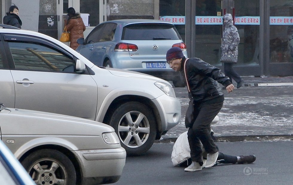
[(218, 151), (212, 136), (210, 135), (210, 124), (223, 106), (223, 102), (195, 105), (194, 115), (196, 120), (188, 129), (188, 142), (190, 146), (190, 157), (192, 161), (202, 161), (201, 142), (207, 153), (216, 153)]

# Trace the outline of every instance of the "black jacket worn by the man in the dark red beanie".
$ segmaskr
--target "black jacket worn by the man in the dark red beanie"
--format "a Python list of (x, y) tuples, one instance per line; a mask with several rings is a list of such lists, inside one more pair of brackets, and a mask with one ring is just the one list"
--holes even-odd
[[(184, 63), (182, 58), (181, 75), (184, 81)], [(212, 101), (223, 95), (219, 83), (227, 87), (231, 84), (219, 68), (211, 66), (200, 58), (190, 58), (186, 61), (187, 79), (190, 85), (193, 100), (196, 102)], [(218, 83), (218, 82), (219, 83)]]

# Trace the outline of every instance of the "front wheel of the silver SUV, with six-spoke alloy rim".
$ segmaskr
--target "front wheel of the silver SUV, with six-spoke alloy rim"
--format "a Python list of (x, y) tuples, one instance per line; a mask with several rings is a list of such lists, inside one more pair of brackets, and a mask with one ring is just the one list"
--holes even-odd
[(120, 105), (113, 112), (109, 125), (115, 129), (128, 156), (145, 153), (155, 141), (157, 127), (154, 114), (140, 102)]

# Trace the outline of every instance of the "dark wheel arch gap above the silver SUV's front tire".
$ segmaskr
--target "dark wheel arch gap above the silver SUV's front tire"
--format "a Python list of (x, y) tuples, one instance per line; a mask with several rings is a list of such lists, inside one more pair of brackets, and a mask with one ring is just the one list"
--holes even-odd
[(121, 104), (126, 103), (126, 102), (140, 102), (144, 105), (146, 105), (147, 107), (150, 108), (150, 110), (152, 111), (153, 115), (155, 116), (155, 121), (156, 121), (156, 139), (160, 139), (161, 138), (161, 133), (162, 133), (162, 125), (161, 125), (161, 118), (159, 115), (159, 111), (157, 109), (157, 107), (155, 106), (155, 104), (147, 97), (143, 97), (143, 96), (137, 96), (137, 95), (123, 95), (120, 97), (115, 98), (115, 100), (113, 100), (108, 108), (108, 110), (106, 111), (106, 114), (104, 116), (103, 119), (103, 123), (108, 124), (111, 115), (113, 114), (114, 110)]

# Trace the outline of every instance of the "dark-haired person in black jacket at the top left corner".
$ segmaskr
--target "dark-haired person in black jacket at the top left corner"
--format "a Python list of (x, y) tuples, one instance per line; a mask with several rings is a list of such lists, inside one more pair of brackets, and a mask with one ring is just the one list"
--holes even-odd
[(3, 24), (8, 24), (21, 29), (22, 21), (19, 18), (19, 10), (17, 6), (11, 6), (9, 12), (3, 18)]

